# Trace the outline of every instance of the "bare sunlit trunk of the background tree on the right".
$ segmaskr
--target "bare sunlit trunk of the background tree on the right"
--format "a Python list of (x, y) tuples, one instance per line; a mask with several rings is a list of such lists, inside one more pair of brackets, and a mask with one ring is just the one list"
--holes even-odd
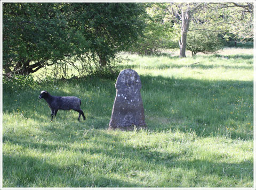
[(190, 11), (187, 10), (181, 12), (181, 39), (179, 40), (180, 45), (180, 58), (186, 57), (186, 45), (187, 45), (187, 33), (190, 21)]

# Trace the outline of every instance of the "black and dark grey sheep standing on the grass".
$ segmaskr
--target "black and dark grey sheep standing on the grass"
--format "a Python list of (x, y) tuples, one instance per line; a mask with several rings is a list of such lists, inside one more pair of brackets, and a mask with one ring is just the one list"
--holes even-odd
[(85, 120), (84, 113), (82, 109), (80, 108), (81, 106), (81, 99), (77, 97), (59, 97), (59, 96), (51, 96), (51, 94), (47, 91), (41, 91), (40, 96), (38, 97), (39, 99), (45, 99), (45, 101), (48, 103), (49, 107), (52, 110), (52, 117), (56, 117), (57, 112), (59, 109), (61, 110), (75, 110), (79, 113), (78, 120), (80, 120), (81, 115), (83, 116)]

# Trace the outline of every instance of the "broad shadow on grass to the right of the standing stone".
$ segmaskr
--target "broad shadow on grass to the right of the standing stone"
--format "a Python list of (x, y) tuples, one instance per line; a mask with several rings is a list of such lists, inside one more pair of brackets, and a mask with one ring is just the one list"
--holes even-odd
[[(188, 132), (192, 129), (199, 136), (253, 139), (253, 128), (246, 126), (253, 118), (252, 81), (143, 75), (141, 81), (143, 105), (151, 130), (177, 128)], [(239, 130), (242, 124), (244, 128)], [(227, 131), (227, 128), (233, 131)]]

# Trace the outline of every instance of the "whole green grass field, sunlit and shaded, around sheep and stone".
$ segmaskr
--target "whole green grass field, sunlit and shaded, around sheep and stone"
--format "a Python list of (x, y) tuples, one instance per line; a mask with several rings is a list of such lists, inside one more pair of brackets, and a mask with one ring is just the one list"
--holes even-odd
[[(148, 129), (107, 131), (115, 80), (4, 87), (3, 187), (253, 187), (253, 55), (138, 56)], [(196, 64), (194, 64), (196, 63)], [(193, 65), (192, 65), (193, 64)], [(51, 111), (41, 90), (82, 99)]]

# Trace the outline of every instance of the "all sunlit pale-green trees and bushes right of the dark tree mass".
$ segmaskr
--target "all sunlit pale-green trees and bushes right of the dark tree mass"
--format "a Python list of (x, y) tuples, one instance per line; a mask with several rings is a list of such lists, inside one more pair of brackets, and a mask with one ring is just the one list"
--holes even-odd
[(147, 27), (140, 39), (139, 53), (159, 48), (185, 49), (193, 55), (221, 49), (223, 40), (247, 41), (253, 37), (252, 3), (154, 3), (148, 4)]

